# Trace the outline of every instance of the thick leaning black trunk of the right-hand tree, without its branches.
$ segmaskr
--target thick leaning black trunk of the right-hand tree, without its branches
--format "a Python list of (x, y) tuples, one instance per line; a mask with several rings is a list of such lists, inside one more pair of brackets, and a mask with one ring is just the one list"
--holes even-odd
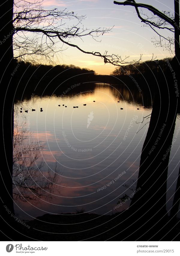
[[(177, 66), (173, 63), (171, 65), (179, 81)], [(134, 195), (129, 208), (133, 222), (137, 220), (135, 229), (142, 227), (142, 234), (149, 230), (149, 237), (163, 228), (167, 221), (167, 172), (178, 104), (175, 79), (170, 70), (167, 73), (168, 82), (161, 79), (155, 92), (149, 129), (140, 159), (137, 188), (141, 189)]]

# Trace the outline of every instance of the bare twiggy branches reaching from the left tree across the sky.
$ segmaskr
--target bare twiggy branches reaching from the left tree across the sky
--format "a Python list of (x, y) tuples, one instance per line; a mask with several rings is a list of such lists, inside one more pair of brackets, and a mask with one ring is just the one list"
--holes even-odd
[[(140, 55), (139, 60), (133, 59), (129, 61), (129, 56), (122, 58), (119, 55), (110, 55), (107, 51), (103, 54), (100, 52), (89, 52), (71, 43), (70, 40), (73, 38), (82, 40), (86, 36), (91, 36), (97, 41), (99, 36), (109, 33), (112, 28), (88, 30), (82, 25), (82, 21), (86, 18), (85, 16), (78, 16), (72, 11), (67, 11), (67, 9), (60, 11), (56, 8), (53, 10), (44, 10), (42, 2), (15, 2), (13, 17), (13, 48), (15, 58), (26, 60), (27, 58), (31, 58), (31, 55), (34, 55), (32, 61), (34, 61), (35, 56), (39, 56), (39, 58), (44, 57), (51, 62), (53, 56), (57, 52), (62, 51), (62, 47), (66, 45), (75, 47), (83, 53), (101, 57), (104, 59), (104, 63), (111, 63), (115, 66), (122, 64), (133, 65), (140, 62), (142, 55)], [(73, 23), (68, 25), (69, 22)], [(61, 42), (62, 45), (57, 45), (58, 42)]]

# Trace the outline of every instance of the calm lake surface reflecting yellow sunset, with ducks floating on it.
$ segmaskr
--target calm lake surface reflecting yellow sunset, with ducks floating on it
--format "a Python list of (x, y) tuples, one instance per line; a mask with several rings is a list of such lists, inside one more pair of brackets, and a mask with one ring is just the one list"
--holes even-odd
[[(113, 85), (96, 84), (93, 91), (64, 96), (32, 95), (31, 99), (20, 101), (15, 107), (16, 128), (29, 129), (28, 140), (44, 145), (41, 157), (33, 165), (37, 167), (43, 160), (40, 175), (51, 169), (58, 173), (59, 179), (57, 188), (48, 197), (26, 202), (15, 200), (19, 216), (30, 219), (82, 208), (86, 212), (115, 213), (113, 208), (119, 197), (132, 194), (125, 185), (133, 183), (138, 175), (148, 129), (148, 124), (143, 125), (150, 119), (140, 122), (152, 111), (151, 99), (146, 99), (146, 104), (143, 100), (139, 92), (133, 95), (128, 90), (118, 91)], [(26, 109), (28, 113), (24, 112)], [(176, 119), (175, 131), (179, 126), (180, 120)], [(167, 210), (172, 205), (179, 171), (179, 145), (180, 136), (170, 153)], [(129, 201), (118, 211), (128, 206)]]

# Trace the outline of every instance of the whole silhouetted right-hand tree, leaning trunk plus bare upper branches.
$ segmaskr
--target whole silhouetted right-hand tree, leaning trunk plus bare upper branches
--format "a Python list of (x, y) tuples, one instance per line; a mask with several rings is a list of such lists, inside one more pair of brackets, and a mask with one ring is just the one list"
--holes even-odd
[[(175, 45), (175, 57), (171, 63), (167, 60), (169, 69), (167, 69), (165, 75), (162, 72), (161, 65), (158, 65), (161, 79), (157, 80), (155, 86), (152, 115), (143, 144), (137, 180), (137, 188), (140, 187), (141, 190), (134, 195), (128, 210), (134, 225), (134, 229), (131, 227), (131, 232), (138, 230), (139, 237), (145, 233), (143, 239), (146, 239), (146, 237), (147, 239), (154, 239), (154, 235), (159, 230), (161, 232), (167, 222), (166, 191), (170, 153), (165, 159), (163, 157), (167, 150), (171, 149), (179, 96), (176, 90), (176, 84), (179, 83), (180, 68), (179, 0), (174, 1), (174, 19), (168, 12), (161, 12), (151, 5), (136, 3), (134, 0), (122, 3), (114, 1), (114, 3), (134, 6), (140, 20), (149, 25), (160, 36), (160, 46), (163, 46), (162, 38), (169, 42), (169, 49), (172, 49), (173, 42)], [(146, 8), (154, 16), (151, 18), (147, 15), (142, 17), (138, 8)], [(163, 37), (156, 31), (157, 28), (173, 31), (174, 41)], [(161, 235), (163, 236), (164, 233), (162, 232)]]

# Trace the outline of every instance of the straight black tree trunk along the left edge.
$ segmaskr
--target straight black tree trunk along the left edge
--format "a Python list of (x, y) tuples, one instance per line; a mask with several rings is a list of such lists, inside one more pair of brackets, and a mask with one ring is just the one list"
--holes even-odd
[[(2, 155), (1, 155), (1, 218), (11, 224), (13, 218), (12, 165), (13, 165), (13, 0), (1, 3), (0, 14), (0, 60), (1, 60), (1, 120)], [(2, 167), (3, 166), (3, 167)], [(7, 208), (5, 208), (7, 207)], [(9, 213), (6, 209), (9, 209)], [(2, 220), (1, 219), (1, 220)], [(2, 227), (2, 226), (1, 226)], [(8, 225), (4, 229), (8, 229)]]

